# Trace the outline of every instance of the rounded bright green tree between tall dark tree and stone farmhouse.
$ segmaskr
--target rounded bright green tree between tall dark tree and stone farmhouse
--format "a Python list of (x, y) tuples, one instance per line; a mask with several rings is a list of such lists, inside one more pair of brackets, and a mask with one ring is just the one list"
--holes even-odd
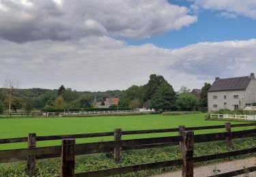
[(195, 110), (195, 108), (198, 106), (197, 97), (191, 93), (179, 95), (176, 103), (181, 110)]

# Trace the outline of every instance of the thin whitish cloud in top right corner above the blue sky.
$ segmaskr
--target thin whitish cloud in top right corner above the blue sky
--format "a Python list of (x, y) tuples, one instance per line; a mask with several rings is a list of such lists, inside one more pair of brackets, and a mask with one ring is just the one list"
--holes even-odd
[[(224, 13), (246, 16), (256, 19), (256, 1), (255, 0), (189, 0), (194, 1), (193, 7), (198, 6), (207, 10), (224, 11)], [(224, 14), (224, 15), (225, 15)], [(227, 16), (225, 16), (227, 17)]]

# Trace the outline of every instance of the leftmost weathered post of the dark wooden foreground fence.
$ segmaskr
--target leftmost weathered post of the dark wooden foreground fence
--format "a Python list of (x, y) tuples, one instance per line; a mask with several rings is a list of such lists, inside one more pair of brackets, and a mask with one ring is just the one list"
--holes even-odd
[[(35, 148), (36, 146), (36, 134), (29, 133), (27, 138), (27, 148)], [(35, 176), (35, 156), (27, 157), (27, 175)]]

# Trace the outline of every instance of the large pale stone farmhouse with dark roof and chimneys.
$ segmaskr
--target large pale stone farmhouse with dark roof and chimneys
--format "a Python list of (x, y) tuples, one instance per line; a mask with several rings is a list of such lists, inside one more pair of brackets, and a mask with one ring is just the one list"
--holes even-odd
[(208, 111), (244, 109), (256, 102), (255, 75), (220, 79), (208, 91)]

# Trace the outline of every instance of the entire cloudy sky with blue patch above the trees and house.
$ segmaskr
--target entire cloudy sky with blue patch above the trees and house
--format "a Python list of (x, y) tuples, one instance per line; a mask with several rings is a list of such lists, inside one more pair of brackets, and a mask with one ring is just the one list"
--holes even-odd
[(178, 91), (256, 71), (255, 0), (0, 0), (0, 86)]

